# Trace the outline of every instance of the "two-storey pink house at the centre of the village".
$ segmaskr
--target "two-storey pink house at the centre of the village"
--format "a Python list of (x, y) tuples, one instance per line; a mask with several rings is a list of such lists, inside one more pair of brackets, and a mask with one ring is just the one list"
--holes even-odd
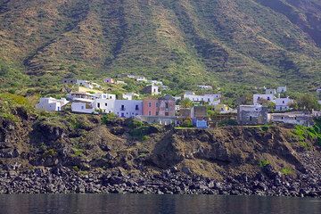
[(175, 116), (175, 99), (170, 95), (165, 95), (159, 99), (144, 99), (144, 116)]

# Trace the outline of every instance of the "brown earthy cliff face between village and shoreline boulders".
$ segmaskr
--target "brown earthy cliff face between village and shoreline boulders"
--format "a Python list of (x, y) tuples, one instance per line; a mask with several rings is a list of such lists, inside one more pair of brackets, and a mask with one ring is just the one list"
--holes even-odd
[[(153, 174), (175, 168), (224, 179), (244, 172), (254, 176), (266, 165), (276, 172), (288, 169), (295, 176), (307, 173), (309, 160), (320, 157), (317, 145), (311, 142), (305, 149), (291, 129), (280, 127), (133, 128), (129, 120), (121, 119), (103, 125), (99, 116), (64, 115), (53, 122), (19, 109), (17, 115), (19, 122), (0, 119), (2, 169), (62, 165)], [(143, 129), (144, 137), (136, 137)], [(313, 167), (320, 170), (317, 161)]]

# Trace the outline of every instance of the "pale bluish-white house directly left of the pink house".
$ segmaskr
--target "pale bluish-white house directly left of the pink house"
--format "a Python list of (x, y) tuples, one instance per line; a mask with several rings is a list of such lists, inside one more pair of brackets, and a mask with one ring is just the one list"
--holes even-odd
[(132, 118), (143, 114), (143, 101), (116, 100), (114, 113), (121, 118)]

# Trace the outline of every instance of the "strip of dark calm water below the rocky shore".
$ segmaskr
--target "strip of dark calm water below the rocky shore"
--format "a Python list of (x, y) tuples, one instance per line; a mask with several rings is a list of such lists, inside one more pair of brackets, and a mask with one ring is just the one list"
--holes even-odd
[(284, 197), (142, 194), (0, 195), (1, 214), (320, 214), (321, 201)]

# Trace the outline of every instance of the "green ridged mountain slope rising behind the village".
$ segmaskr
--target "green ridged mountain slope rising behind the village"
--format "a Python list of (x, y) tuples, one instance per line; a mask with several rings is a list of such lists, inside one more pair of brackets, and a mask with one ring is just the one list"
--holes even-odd
[(0, 46), (5, 89), (132, 72), (177, 88), (312, 90), (321, 80), (321, 3), (3, 0)]

